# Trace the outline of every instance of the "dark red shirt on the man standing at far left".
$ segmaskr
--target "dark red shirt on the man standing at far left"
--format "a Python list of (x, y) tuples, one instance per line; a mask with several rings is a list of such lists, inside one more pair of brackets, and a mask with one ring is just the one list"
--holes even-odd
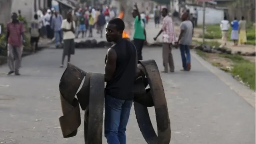
[(7, 30), (9, 31), (8, 44), (12, 46), (22, 46), (21, 34), (24, 32), (23, 23), (12, 23), (7, 24)]

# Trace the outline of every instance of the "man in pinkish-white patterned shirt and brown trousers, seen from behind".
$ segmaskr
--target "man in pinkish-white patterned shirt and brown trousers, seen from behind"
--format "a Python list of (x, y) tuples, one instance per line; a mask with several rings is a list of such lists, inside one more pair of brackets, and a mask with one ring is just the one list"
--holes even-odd
[(172, 57), (172, 44), (176, 42), (176, 36), (174, 31), (174, 24), (172, 18), (168, 16), (167, 8), (162, 9), (163, 26), (162, 29), (158, 32), (157, 36), (154, 38), (156, 40), (158, 36), (163, 32), (163, 49), (162, 57), (164, 64), (164, 73), (168, 73), (168, 64), (170, 67), (170, 72), (174, 72), (174, 61)]

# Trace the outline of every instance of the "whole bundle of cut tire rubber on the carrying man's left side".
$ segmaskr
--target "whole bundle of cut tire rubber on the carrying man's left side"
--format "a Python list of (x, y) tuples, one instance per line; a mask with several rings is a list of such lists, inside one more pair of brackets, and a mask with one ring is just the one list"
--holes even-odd
[[(76, 94), (84, 76), (84, 84)], [(76, 136), (77, 129), (81, 124), (80, 103), (82, 110), (86, 108), (85, 144), (102, 144), (104, 74), (86, 73), (80, 68), (68, 64), (60, 80), (59, 88), (63, 112), (63, 116), (59, 120), (63, 137)], [(74, 98), (75, 95), (78, 100)]]

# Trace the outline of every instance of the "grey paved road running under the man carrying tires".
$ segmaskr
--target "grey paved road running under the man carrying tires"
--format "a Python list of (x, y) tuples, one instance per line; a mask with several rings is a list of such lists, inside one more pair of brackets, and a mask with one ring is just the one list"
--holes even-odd
[[(72, 63), (87, 72), (104, 72), (107, 49), (77, 49)], [(144, 48), (162, 70), (160, 48)], [(193, 52), (192, 52), (193, 53)], [(62, 138), (58, 84), (62, 50), (45, 49), (22, 59), (21, 76), (0, 74), (0, 142), (7, 144), (83, 144), (80, 126), (74, 138)], [(161, 74), (172, 126), (172, 144), (254, 144), (255, 109), (192, 56), (191, 72), (179, 71), (180, 52), (173, 50), (176, 72)], [(202, 64), (204, 65), (202, 65)], [(208, 68), (206, 68), (206, 67)], [(211, 68), (212, 69), (212, 68)], [(8, 72), (7, 66), (0, 73)], [(232, 78), (217, 71), (224, 79)], [(236, 81), (230, 81), (235, 83)], [(238, 84), (238, 83), (236, 83)], [(238, 84), (243, 90), (243, 86)], [(155, 113), (149, 108), (154, 126)], [(105, 138), (104, 138), (105, 140)], [(132, 108), (128, 144), (146, 144)], [(105, 141), (104, 141), (104, 144)]]

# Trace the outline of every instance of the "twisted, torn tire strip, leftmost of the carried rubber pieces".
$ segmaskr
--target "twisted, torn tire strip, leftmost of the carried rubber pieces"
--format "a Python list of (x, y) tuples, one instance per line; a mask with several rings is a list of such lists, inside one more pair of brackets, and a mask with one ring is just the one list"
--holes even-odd
[(80, 108), (75, 96), (85, 74), (86, 72), (80, 68), (68, 64), (60, 79), (59, 90), (63, 116), (59, 121), (64, 138), (76, 136), (77, 128), (81, 124)]

